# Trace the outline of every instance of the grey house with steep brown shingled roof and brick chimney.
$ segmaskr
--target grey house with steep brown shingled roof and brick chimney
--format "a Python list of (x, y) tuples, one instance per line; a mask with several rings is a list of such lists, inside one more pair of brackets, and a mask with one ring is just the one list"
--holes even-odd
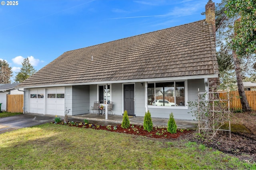
[[(218, 85), (214, 6), (206, 4), (206, 20), (63, 53), (16, 86), (24, 112), (79, 115), (111, 101), (115, 115), (193, 120), (188, 101)], [(152, 105), (156, 97), (174, 105)]]

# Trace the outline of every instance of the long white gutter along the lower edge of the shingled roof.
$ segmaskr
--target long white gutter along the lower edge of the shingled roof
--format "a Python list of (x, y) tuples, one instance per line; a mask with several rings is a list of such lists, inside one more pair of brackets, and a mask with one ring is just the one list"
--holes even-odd
[(115, 80), (115, 81), (103, 81), (103, 82), (47, 84), (47, 85), (40, 85), (40, 86), (20, 86), (20, 87), (17, 87), (17, 88), (46, 88), (46, 87), (79, 86), (79, 85), (92, 85), (92, 84), (113, 84), (113, 83), (132, 83), (132, 82), (158, 82), (158, 81), (174, 81), (174, 80), (218, 78), (218, 77), (219, 77), (218, 74), (210, 74), (210, 75), (198, 75), (198, 76), (183, 76), (183, 77), (168, 77), (168, 78), (146, 78), (146, 79)]

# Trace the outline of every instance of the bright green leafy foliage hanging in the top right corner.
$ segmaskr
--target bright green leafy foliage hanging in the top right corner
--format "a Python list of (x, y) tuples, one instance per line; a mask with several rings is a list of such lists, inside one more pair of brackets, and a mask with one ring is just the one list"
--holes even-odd
[(235, 23), (235, 34), (230, 46), (239, 57), (256, 54), (256, 1), (227, 0), (226, 14), (239, 19)]

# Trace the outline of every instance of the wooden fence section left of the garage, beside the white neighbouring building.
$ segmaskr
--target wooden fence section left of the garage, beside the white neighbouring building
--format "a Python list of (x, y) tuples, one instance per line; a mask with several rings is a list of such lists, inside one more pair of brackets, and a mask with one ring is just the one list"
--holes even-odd
[(23, 112), (23, 94), (7, 95), (7, 112), (22, 113)]

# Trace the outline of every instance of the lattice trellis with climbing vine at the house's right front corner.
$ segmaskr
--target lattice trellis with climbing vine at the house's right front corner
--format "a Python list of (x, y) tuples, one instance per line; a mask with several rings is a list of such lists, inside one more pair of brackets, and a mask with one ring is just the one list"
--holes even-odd
[[(218, 131), (229, 131), (231, 138), (229, 100), (229, 91), (202, 93), (198, 89), (198, 101), (188, 102), (188, 106), (192, 109), (190, 113), (198, 120), (199, 134), (211, 136), (212, 139)], [(228, 129), (221, 129), (226, 122), (229, 123)]]

